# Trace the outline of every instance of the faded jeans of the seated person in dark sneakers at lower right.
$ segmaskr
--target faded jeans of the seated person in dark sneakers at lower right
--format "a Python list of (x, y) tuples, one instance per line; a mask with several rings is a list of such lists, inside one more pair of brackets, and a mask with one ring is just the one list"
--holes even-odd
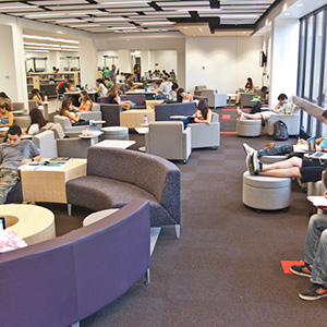
[(327, 284), (327, 216), (310, 218), (304, 246), (304, 261), (313, 265), (311, 281)]

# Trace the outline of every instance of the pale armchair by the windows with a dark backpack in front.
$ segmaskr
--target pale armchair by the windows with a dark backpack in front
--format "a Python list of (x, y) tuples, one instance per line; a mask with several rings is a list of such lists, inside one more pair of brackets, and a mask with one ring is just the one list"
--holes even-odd
[(265, 121), (265, 129), (268, 135), (274, 133), (274, 123), (278, 120), (284, 122), (288, 126), (289, 135), (300, 134), (300, 109), (295, 108), (291, 114), (278, 114), (271, 112), (269, 119)]

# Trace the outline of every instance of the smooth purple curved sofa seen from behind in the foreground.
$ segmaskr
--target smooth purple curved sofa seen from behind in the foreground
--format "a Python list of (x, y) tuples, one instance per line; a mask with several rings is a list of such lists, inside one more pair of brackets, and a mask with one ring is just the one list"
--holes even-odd
[(93, 225), (0, 254), (0, 325), (75, 324), (126, 292), (149, 265), (149, 204), (136, 199)]

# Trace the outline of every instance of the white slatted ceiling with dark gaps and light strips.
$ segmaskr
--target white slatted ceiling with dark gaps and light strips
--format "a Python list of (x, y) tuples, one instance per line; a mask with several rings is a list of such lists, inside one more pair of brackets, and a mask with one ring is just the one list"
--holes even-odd
[(274, 2), (279, 0), (0, 0), (0, 13), (95, 34), (178, 32), (175, 23), (207, 24), (214, 34), (253, 29)]

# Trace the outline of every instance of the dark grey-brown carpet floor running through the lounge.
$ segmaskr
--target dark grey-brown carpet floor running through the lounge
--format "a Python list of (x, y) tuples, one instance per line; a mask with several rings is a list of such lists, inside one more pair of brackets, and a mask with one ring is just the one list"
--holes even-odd
[[(222, 132), (235, 131), (235, 110), (215, 111)], [(136, 141), (134, 149), (144, 145), (144, 135), (130, 138)], [(182, 171), (181, 239), (173, 227), (164, 227), (152, 256), (150, 284), (141, 280), (82, 327), (326, 326), (327, 299), (300, 300), (310, 280), (283, 274), (280, 265), (303, 258), (306, 194), (293, 181), (287, 211), (245, 207), (243, 142), (262, 148), (270, 138), (221, 134), (218, 150), (194, 150), (186, 165), (175, 162)], [(81, 227), (89, 214), (74, 208), (69, 217), (65, 206), (47, 206), (56, 214), (58, 234)]]

